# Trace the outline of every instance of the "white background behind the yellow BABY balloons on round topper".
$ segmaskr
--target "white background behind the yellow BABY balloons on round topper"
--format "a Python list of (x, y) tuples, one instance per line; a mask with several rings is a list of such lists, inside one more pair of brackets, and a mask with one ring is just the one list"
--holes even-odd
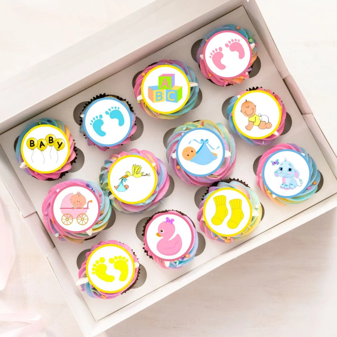
[[(45, 139), (49, 134), (52, 134), (56, 139), (61, 139), (65, 142), (65, 146), (62, 150), (57, 151), (54, 146), (49, 145), (47, 145), (47, 148), (43, 151), (40, 151), (38, 147), (34, 150), (27, 147), (26, 142), (29, 138), (35, 138), (38, 141), (39, 139)], [(22, 154), (26, 163), (28, 163), (33, 170), (40, 173), (55, 172), (59, 170), (60, 166), (62, 167), (62, 164), (69, 157), (69, 141), (58, 128), (41, 125), (31, 129), (25, 135), (23, 139)]]

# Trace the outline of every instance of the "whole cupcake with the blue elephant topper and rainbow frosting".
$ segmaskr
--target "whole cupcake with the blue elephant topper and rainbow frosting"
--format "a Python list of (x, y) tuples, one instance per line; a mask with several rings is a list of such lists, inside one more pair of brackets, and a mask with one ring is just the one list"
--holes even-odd
[(307, 151), (296, 144), (277, 144), (258, 161), (256, 183), (278, 204), (298, 204), (318, 188), (320, 173)]

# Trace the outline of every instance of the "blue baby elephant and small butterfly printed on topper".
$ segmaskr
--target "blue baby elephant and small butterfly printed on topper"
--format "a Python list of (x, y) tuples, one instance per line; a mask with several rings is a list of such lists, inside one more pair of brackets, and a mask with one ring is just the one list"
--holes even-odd
[[(271, 161), (273, 165), (278, 164), (278, 159), (276, 161)], [(284, 190), (295, 189), (296, 187), (302, 186), (302, 179), (300, 179), (300, 172), (296, 170), (294, 165), (284, 158), (284, 161), (280, 163), (280, 166), (274, 172), (275, 177), (282, 178), (282, 184), (280, 188)]]

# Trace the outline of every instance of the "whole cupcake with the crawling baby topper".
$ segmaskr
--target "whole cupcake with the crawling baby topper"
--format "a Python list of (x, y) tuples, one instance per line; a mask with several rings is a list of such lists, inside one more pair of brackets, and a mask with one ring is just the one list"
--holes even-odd
[(227, 108), (233, 132), (252, 145), (268, 145), (282, 134), (286, 114), (281, 98), (261, 87), (240, 92)]

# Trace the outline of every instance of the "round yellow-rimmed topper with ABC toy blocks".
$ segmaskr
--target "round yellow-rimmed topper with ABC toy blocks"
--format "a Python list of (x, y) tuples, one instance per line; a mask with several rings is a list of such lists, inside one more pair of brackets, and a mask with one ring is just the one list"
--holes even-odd
[(172, 114), (188, 101), (190, 83), (181, 69), (172, 65), (159, 65), (144, 76), (141, 92), (151, 110), (164, 115)]

